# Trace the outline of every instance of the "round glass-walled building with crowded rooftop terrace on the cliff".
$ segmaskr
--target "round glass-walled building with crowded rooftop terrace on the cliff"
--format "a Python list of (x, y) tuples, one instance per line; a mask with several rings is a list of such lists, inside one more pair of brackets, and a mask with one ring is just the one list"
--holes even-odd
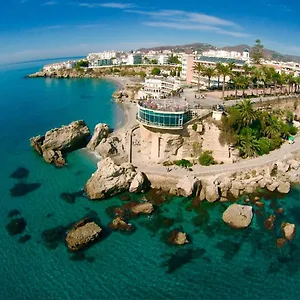
[(183, 98), (141, 100), (137, 121), (158, 129), (181, 130), (192, 118), (189, 105)]

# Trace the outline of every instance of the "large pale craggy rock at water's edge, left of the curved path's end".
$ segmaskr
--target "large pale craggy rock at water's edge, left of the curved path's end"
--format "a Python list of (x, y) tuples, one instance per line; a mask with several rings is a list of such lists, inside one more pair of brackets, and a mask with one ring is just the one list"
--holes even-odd
[(97, 171), (87, 181), (84, 188), (87, 197), (91, 200), (105, 199), (128, 191), (136, 174), (132, 164), (118, 166), (107, 157), (98, 162)]

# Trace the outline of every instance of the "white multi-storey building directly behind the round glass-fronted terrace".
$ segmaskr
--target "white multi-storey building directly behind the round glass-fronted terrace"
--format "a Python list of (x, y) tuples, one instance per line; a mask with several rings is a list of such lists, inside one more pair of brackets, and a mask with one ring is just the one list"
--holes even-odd
[(175, 77), (156, 76), (146, 78), (144, 87), (138, 92), (138, 99), (161, 99), (181, 88), (181, 82)]

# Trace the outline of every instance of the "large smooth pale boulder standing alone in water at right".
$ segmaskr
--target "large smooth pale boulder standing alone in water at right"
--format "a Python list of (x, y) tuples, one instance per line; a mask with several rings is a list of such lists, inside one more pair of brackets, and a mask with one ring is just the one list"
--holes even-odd
[(223, 213), (223, 221), (232, 228), (246, 228), (252, 221), (252, 207), (249, 205), (232, 204)]

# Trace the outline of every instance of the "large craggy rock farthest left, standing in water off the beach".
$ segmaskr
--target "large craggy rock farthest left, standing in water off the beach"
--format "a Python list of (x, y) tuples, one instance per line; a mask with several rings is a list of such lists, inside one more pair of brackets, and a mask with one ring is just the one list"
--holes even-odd
[(83, 120), (55, 128), (30, 139), (31, 147), (48, 163), (65, 164), (64, 154), (85, 147), (90, 131)]

